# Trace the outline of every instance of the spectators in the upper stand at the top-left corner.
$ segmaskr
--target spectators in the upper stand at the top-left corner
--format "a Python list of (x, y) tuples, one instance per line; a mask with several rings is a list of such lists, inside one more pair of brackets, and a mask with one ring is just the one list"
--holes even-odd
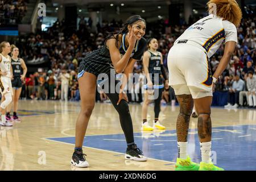
[(0, 24), (18, 24), (27, 12), (28, 0), (0, 0)]

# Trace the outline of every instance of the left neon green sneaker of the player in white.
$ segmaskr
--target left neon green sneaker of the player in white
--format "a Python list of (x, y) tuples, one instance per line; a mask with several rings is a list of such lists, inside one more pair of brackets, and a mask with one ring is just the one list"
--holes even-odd
[(188, 156), (187, 159), (177, 158), (175, 171), (198, 171), (199, 167), (199, 164), (193, 163)]

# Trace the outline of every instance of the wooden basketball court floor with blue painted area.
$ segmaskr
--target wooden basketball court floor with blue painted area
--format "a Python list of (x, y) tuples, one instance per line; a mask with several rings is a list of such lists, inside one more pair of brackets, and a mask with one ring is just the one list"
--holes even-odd
[[(90, 118), (83, 150), (90, 167), (70, 165), (75, 143), (79, 102), (20, 101), (22, 121), (0, 128), (2, 170), (174, 170), (177, 157), (176, 117), (179, 106), (162, 107), (160, 120), (167, 127), (141, 131), (141, 105), (130, 104), (135, 143), (148, 156), (147, 162), (124, 159), (125, 138), (111, 104), (97, 103)], [(148, 109), (152, 125), (153, 107)], [(226, 170), (256, 170), (256, 110), (212, 108), (212, 158)], [(200, 162), (197, 119), (191, 118), (188, 154)]]

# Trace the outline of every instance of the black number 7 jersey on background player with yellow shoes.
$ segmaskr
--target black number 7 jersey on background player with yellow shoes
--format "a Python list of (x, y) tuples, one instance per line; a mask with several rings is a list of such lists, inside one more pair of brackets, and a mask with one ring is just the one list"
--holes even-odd
[[(158, 52), (157, 55), (154, 55), (151, 51), (148, 51), (150, 53), (150, 60), (148, 63), (148, 72), (152, 74), (152, 82), (154, 82), (155, 75), (158, 74), (158, 77), (160, 79), (160, 75), (162, 75), (161, 72), (161, 56), (160, 52)], [(162, 82), (162, 81), (160, 81)]]

